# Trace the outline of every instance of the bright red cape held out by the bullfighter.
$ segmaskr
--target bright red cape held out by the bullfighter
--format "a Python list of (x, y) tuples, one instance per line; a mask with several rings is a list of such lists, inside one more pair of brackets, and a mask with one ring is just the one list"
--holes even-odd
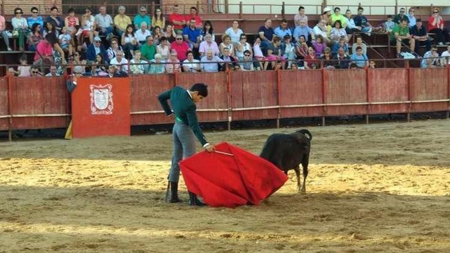
[(202, 151), (179, 163), (188, 190), (210, 206), (259, 204), (287, 180), (272, 163), (229, 143), (216, 150), (232, 155)]

